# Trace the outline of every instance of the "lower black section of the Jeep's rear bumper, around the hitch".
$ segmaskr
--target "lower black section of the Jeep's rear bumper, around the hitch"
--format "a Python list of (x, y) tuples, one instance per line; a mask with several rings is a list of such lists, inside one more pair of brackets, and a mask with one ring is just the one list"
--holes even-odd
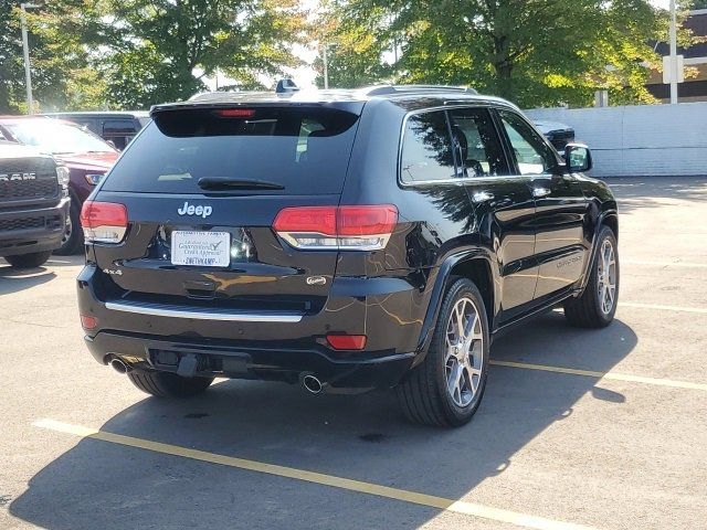
[(196, 375), (296, 383), (304, 374), (312, 373), (333, 389), (394, 385), (410, 369), (414, 357), (413, 353), (367, 356), (347, 361), (317, 349), (243, 347), (108, 331), (85, 337), (85, 341), (96, 361), (104, 364), (117, 357), (133, 368), (177, 372), (183, 356), (196, 356)]

